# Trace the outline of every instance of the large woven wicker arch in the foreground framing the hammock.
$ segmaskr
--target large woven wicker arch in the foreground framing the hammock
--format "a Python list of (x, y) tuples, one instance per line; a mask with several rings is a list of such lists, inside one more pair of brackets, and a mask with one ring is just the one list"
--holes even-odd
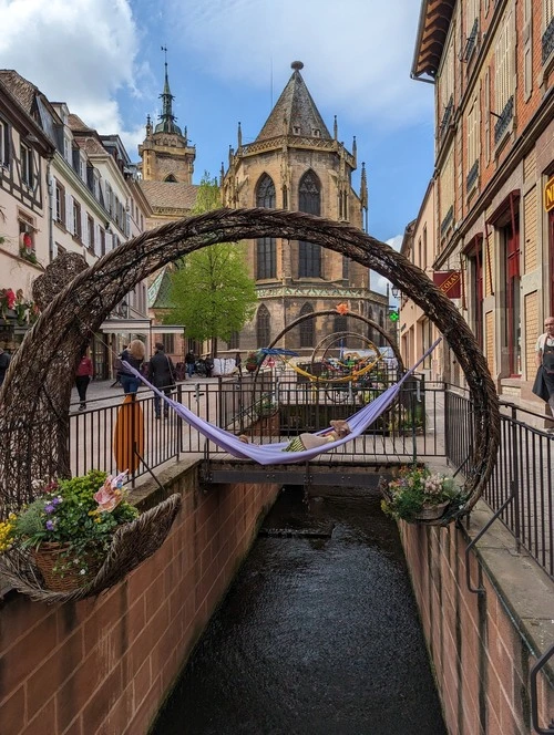
[(278, 209), (219, 209), (129, 240), (79, 273), (44, 309), (14, 355), (0, 393), (0, 514), (33, 498), (33, 478), (69, 475), (69, 404), (80, 349), (125, 294), (188, 252), (260, 237), (304, 240), (345, 255), (388, 278), (434, 322), (473, 398), (474, 446), (460, 515), (473, 507), (496, 459), (499, 400), (485, 359), (449, 299), (406, 257), (346, 224)]

